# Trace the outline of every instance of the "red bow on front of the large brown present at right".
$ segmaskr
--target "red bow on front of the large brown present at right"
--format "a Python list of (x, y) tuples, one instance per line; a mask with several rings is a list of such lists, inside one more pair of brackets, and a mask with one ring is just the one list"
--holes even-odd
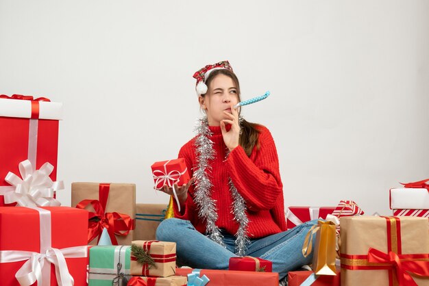
[[(407, 257), (412, 255), (401, 255), (401, 257), (402, 256)], [(417, 283), (415, 283), (408, 272), (419, 276), (429, 276), (429, 261), (413, 261), (408, 259), (401, 261), (400, 256), (393, 251), (384, 253), (375, 248), (369, 248), (368, 262), (387, 263), (392, 265), (392, 267), (395, 269), (397, 281), (400, 285), (417, 286)]]

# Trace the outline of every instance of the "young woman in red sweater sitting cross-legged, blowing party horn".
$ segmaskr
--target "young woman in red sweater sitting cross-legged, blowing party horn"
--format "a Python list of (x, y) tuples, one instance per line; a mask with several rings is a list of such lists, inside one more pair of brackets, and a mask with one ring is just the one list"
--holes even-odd
[[(177, 260), (192, 268), (228, 269), (231, 257), (249, 255), (272, 261), (273, 271), (284, 278), (310, 263), (312, 255), (304, 257), (302, 245), (317, 222), (286, 231), (273, 138), (234, 109), (240, 86), (229, 62), (208, 65), (194, 77), (206, 116), (179, 153), (192, 179), (175, 185), (181, 210), (175, 203), (175, 218), (164, 220), (156, 237), (176, 242)], [(167, 185), (163, 191), (172, 194)]]

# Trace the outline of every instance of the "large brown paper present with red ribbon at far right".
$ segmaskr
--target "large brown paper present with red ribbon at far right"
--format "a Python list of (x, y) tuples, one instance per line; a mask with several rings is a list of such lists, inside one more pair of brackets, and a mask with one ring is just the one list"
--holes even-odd
[(429, 269), (427, 218), (344, 217), (340, 226), (341, 285), (429, 285), (410, 275)]

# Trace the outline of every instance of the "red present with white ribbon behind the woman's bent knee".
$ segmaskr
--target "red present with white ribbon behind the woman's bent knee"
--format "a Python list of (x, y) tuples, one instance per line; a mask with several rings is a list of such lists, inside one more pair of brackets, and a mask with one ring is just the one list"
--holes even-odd
[(326, 219), (335, 207), (289, 207), (286, 209), (286, 224), (288, 229), (308, 222), (309, 220)]

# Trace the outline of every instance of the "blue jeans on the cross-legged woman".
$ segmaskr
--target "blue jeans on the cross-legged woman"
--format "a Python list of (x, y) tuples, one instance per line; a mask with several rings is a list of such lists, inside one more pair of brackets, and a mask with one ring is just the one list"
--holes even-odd
[[(278, 272), (280, 279), (287, 272), (296, 270), (302, 265), (311, 263), (312, 253), (308, 257), (302, 255), (302, 244), (311, 226), (317, 220), (304, 222), (293, 229), (269, 235), (259, 239), (251, 239), (246, 255), (260, 257), (272, 261), (273, 272)], [(164, 220), (156, 230), (156, 239), (177, 244), (177, 263), (191, 268), (228, 269), (234, 254), (234, 236), (224, 234), (226, 248), (213, 242), (197, 231), (188, 220), (169, 218)], [(313, 237), (314, 249), (315, 237)]]

